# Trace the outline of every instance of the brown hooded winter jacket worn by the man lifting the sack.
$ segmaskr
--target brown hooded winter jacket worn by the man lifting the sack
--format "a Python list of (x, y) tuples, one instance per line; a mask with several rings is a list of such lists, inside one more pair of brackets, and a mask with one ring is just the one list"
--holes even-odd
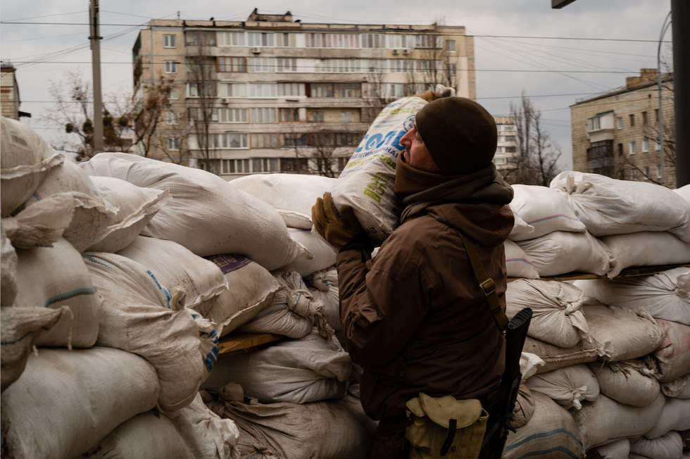
[(481, 399), (503, 374), (505, 340), (455, 228), (475, 241), (505, 310), (510, 207), (441, 203), (420, 215), (372, 260), (358, 250), (337, 256), (348, 351), (364, 367), (362, 405), (375, 420), (403, 415), (420, 392)]

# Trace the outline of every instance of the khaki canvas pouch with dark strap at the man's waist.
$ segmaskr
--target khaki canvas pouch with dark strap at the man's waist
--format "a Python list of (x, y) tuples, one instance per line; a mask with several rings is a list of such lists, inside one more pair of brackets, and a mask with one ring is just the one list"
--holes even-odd
[(436, 398), (420, 392), (406, 407), (410, 459), (479, 457), (489, 419), (479, 400)]

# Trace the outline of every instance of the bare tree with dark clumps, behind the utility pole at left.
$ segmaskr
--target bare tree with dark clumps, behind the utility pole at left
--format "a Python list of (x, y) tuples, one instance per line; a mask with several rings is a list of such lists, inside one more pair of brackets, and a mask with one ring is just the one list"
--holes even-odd
[[(94, 156), (93, 91), (91, 83), (79, 71), (65, 72), (67, 82), (51, 80), (49, 93), (56, 100), (41, 119), (64, 129), (53, 141), (56, 150), (75, 153), (77, 161)], [(106, 98), (107, 99), (107, 98)], [(130, 113), (118, 104), (103, 104), (103, 146), (109, 151), (127, 151), (131, 140), (123, 137), (130, 127)]]

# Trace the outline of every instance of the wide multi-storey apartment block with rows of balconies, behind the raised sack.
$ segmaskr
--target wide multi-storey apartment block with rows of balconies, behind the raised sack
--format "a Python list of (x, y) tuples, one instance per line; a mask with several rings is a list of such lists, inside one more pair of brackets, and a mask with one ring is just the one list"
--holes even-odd
[[(454, 87), (475, 99), (465, 27), (151, 20), (133, 48), (140, 109), (165, 94), (139, 154), (210, 170), (337, 177), (390, 101)], [(140, 122), (137, 129), (151, 129)]]

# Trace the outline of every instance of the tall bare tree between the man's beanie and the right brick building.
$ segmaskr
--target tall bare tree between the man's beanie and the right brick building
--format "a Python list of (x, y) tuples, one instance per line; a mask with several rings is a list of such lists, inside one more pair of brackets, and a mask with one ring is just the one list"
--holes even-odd
[(510, 167), (501, 171), (503, 179), (510, 184), (548, 187), (559, 172), (560, 146), (546, 132), (541, 111), (524, 94), (519, 106), (510, 103), (510, 116), (515, 120), (517, 151), (510, 158)]

